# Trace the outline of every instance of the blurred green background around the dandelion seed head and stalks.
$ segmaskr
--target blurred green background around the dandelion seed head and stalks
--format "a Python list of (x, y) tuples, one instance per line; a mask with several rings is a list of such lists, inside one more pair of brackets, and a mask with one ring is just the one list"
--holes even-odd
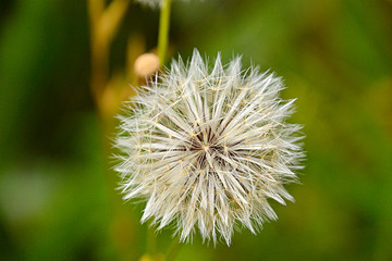
[[(137, 260), (146, 250), (143, 206), (109, 196), (86, 9), (0, 1), (0, 260)], [(155, 48), (158, 21), (130, 7), (112, 72), (124, 67), (128, 35)], [(278, 222), (236, 233), (230, 248), (196, 235), (177, 260), (392, 260), (392, 1), (179, 1), (171, 46), (184, 58), (194, 47), (210, 60), (243, 54), (245, 66), (283, 76), (307, 151), (302, 185), (289, 186), (296, 202), (273, 203)], [(159, 234), (159, 250), (172, 232)]]

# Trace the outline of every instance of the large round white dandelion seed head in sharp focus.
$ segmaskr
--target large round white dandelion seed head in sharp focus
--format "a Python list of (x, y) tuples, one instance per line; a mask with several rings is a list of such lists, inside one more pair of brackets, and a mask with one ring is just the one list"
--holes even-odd
[(197, 50), (173, 61), (130, 101), (115, 146), (123, 199), (146, 201), (142, 222), (176, 227), (181, 241), (231, 243), (235, 227), (256, 234), (293, 197), (303, 152), (301, 126), (286, 123), (294, 100), (282, 100), (282, 80), (241, 58), (220, 55), (209, 70)]

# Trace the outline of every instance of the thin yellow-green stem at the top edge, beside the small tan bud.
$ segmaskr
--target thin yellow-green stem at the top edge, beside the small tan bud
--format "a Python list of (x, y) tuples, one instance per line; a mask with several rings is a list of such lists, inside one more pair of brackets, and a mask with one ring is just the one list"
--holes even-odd
[(163, 65), (166, 62), (167, 50), (168, 50), (170, 8), (171, 8), (171, 0), (163, 0), (162, 8), (160, 11), (159, 35), (158, 35), (158, 57), (161, 65)]

